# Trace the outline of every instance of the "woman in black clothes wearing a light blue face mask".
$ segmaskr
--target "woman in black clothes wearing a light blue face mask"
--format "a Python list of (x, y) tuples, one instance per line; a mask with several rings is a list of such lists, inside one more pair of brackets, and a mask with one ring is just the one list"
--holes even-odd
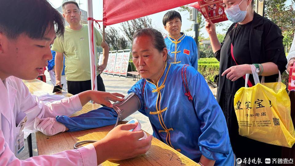
[[(209, 21), (209, 34), (214, 55), (220, 61), (217, 101), (226, 117), (231, 144), (237, 158), (279, 158), (280, 147), (248, 139), (238, 134), (238, 121), (234, 111), (234, 94), (245, 86), (244, 76), (257, 72), (265, 82), (276, 82), (278, 70), (286, 69), (283, 36), (280, 28), (253, 11), (254, 0), (223, 0), (227, 18), (234, 22), (222, 43), (219, 43), (215, 25)], [(248, 86), (255, 85), (250, 75)], [(254, 103), (253, 103), (254, 104)], [(252, 106), (251, 106), (252, 107)]]

